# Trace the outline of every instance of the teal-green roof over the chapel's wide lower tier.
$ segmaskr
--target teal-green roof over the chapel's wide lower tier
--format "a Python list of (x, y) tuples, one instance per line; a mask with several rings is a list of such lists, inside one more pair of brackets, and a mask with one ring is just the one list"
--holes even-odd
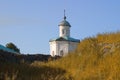
[(79, 39), (74, 39), (72, 37), (58, 37), (50, 40), (50, 42), (52, 41), (70, 41), (70, 42), (78, 42), (78, 43), (80, 42)]

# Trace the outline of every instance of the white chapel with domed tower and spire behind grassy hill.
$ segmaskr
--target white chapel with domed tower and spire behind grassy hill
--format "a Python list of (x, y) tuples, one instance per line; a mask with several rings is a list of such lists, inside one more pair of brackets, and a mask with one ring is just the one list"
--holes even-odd
[(64, 19), (58, 26), (59, 37), (49, 41), (51, 56), (65, 56), (69, 52), (74, 51), (80, 42), (80, 40), (70, 37), (71, 25), (68, 21), (66, 21), (65, 11)]

